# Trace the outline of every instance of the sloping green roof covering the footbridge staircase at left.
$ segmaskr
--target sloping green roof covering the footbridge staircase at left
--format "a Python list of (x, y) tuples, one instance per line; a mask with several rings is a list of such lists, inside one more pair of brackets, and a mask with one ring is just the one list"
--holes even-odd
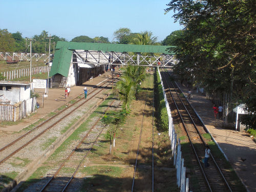
[(68, 50), (65, 47), (56, 50), (49, 76), (52, 77), (53, 75), (59, 73), (65, 77), (68, 77), (72, 54), (73, 51)]

